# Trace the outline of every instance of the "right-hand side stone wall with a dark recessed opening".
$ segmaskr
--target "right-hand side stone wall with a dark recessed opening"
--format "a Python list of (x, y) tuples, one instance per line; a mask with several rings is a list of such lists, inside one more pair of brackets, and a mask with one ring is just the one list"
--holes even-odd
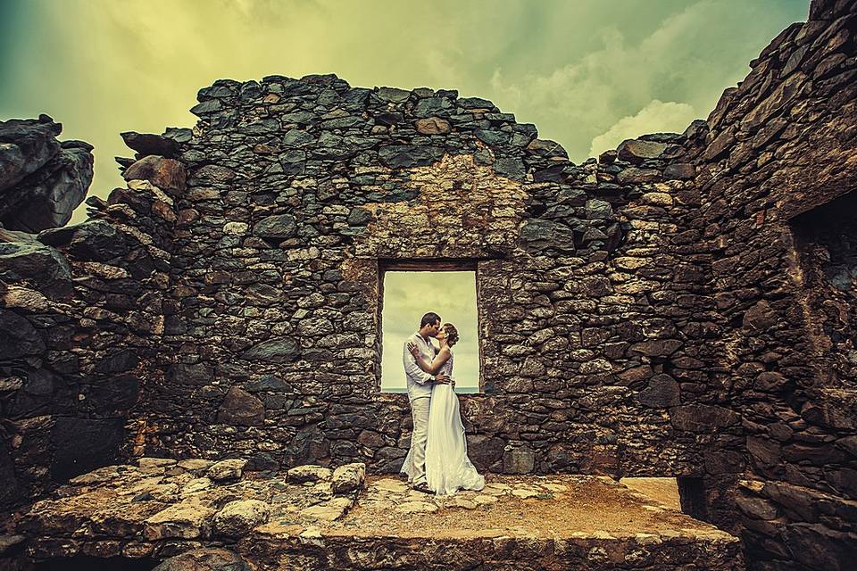
[(814, 2), (726, 90), (697, 147), (688, 226), (719, 318), (707, 383), (741, 426), (706, 452), (708, 516), (741, 532), (754, 569), (857, 554), (855, 31), (853, 2)]

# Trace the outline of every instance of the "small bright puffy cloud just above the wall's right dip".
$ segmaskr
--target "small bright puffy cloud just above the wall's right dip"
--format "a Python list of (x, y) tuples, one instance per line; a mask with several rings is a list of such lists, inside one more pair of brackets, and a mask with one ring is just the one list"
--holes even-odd
[(673, 101), (663, 103), (655, 99), (636, 115), (623, 117), (605, 132), (592, 140), (589, 156), (596, 157), (608, 149), (615, 149), (625, 139), (648, 133), (681, 133), (697, 116), (693, 106)]

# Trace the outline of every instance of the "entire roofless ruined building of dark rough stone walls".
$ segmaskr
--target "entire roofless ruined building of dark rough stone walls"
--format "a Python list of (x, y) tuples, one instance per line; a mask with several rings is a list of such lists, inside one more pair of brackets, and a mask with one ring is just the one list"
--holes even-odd
[(465, 269), (478, 468), (675, 476), (749, 568), (849, 568), (855, 35), (816, 0), (707, 120), (582, 165), (451, 90), (216, 81), (86, 222), (5, 211), (0, 500), (141, 456), (395, 472), (384, 272)]

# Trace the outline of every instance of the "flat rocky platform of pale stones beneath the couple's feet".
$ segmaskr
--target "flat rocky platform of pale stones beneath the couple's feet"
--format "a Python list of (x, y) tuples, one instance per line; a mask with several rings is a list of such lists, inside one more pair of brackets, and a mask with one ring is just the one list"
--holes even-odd
[(99, 468), (37, 501), (0, 543), (42, 565), (149, 559), (161, 571), (743, 568), (735, 537), (606, 476), (489, 475), (484, 490), (435, 497), (367, 479), (362, 464), (244, 468)]

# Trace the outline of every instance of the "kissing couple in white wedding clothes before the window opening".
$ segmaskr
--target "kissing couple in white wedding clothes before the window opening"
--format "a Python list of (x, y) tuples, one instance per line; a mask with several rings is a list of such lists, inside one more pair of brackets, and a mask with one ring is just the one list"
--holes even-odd
[[(401, 472), (419, 492), (451, 495), (458, 490), (481, 490), (480, 476), (467, 457), (467, 441), (453, 391), (453, 345), (458, 330), (441, 327), (437, 313), (426, 313), (420, 330), (404, 343), (404, 374), (411, 402), (411, 449)], [(431, 343), (434, 337), (439, 349)]]

